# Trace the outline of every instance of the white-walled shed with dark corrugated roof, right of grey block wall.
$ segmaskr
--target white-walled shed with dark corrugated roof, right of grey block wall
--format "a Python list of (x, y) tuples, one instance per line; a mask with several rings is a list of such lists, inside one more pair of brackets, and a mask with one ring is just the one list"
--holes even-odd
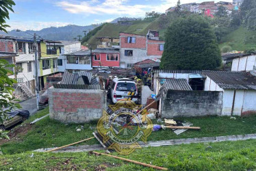
[(205, 91), (223, 92), (222, 116), (256, 112), (256, 74), (251, 72), (203, 71)]

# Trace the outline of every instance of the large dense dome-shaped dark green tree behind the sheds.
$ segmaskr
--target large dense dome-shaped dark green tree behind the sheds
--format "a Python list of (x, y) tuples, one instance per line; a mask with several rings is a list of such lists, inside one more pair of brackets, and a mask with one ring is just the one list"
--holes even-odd
[(162, 69), (214, 70), (221, 64), (216, 36), (202, 16), (178, 18), (165, 38)]

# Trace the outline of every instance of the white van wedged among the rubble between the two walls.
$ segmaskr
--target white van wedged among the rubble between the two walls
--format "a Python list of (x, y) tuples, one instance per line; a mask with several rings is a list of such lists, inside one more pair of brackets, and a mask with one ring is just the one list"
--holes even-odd
[(124, 99), (138, 103), (138, 89), (136, 83), (131, 79), (115, 78), (110, 83), (110, 96), (113, 103)]

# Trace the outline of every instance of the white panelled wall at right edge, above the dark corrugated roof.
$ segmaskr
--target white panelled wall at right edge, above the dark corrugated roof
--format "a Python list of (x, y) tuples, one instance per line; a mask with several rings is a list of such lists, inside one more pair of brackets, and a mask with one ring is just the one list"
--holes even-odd
[(253, 70), (253, 66), (256, 65), (256, 55), (248, 55), (233, 59), (232, 71), (250, 71)]

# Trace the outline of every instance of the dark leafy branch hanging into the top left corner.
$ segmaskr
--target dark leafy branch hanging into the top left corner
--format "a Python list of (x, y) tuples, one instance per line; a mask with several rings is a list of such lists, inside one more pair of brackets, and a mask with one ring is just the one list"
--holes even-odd
[(12, 6), (15, 5), (14, 1), (12, 0), (0, 0), (0, 31), (6, 31), (6, 27), (10, 27), (9, 25), (6, 25), (6, 19), (9, 18), (9, 11), (14, 12), (12, 10)]

